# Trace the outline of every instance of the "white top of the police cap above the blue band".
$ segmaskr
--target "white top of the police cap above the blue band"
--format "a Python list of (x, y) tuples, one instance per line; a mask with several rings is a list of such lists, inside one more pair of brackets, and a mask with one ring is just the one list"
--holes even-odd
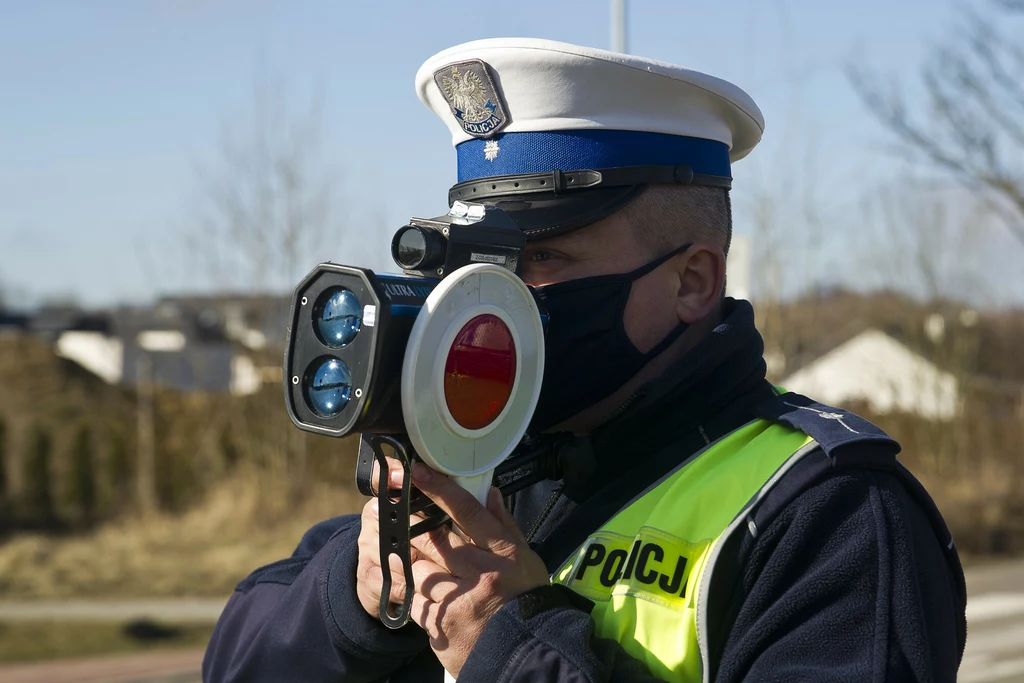
[(416, 75), (420, 99), (441, 118), (459, 145), (473, 139), (435, 80), (452, 65), (489, 67), (508, 119), (501, 133), (608, 129), (717, 140), (730, 161), (761, 139), (764, 118), (728, 81), (630, 54), (530, 38), (477, 40), (449, 48)]

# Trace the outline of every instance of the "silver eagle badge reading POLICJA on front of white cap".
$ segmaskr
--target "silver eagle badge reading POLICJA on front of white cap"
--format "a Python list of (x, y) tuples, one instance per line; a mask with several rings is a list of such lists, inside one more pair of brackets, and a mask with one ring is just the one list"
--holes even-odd
[(434, 72), (434, 83), (459, 125), (473, 137), (490, 137), (508, 124), (505, 102), (480, 59), (445, 65)]

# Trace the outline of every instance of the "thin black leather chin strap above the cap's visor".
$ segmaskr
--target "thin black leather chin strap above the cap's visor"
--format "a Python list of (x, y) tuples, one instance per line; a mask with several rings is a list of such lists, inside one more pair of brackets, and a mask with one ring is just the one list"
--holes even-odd
[(523, 173), (466, 180), (449, 189), (449, 206), (456, 201), (478, 202), (493, 197), (552, 193), (568, 195), (579, 190), (628, 185), (682, 184), (731, 187), (732, 178), (694, 173), (686, 164), (678, 166), (625, 166), (582, 171), (555, 169), (549, 173)]

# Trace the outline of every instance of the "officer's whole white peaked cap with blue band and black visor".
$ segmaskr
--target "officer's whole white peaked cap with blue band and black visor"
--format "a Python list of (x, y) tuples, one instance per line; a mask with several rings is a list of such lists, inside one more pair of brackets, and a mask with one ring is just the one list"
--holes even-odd
[(416, 74), (447, 125), (456, 201), (510, 212), (527, 239), (589, 224), (659, 183), (729, 187), (764, 119), (722, 79), (629, 54), (528, 38), (478, 40)]

